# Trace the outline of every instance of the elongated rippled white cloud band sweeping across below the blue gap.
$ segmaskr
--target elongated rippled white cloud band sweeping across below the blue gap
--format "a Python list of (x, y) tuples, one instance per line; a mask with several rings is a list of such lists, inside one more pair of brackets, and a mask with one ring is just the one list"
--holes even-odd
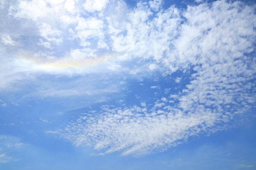
[(61, 137), (76, 146), (87, 144), (96, 150), (105, 150), (105, 154), (122, 151), (122, 155), (140, 155), (175, 146), (180, 140), (214, 126), (218, 119), (210, 112), (202, 114), (201, 110), (184, 115), (174, 108), (165, 110), (163, 105), (155, 109), (138, 106), (104, 108), (100, 117), (80, 118), (78, 123), (67, 126), (64, 132), (57, 132), (62, 132)]

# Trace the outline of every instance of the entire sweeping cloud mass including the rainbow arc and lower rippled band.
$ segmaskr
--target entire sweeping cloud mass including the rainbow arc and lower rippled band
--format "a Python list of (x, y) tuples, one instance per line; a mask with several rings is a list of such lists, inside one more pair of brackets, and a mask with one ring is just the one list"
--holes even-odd
[[(255, 4), (163, 3), (1, 1), (0, 93), (31, 86), (26, 97), (105, 102), (45, 130), (101, 155), (161, 152), (226, 128), (256, 104)], [(150, 85), (161, 94), (150, 101), (108, 104), (129, 93), (130, 80), (143, 86), (147, 77), (174, 85)]]

